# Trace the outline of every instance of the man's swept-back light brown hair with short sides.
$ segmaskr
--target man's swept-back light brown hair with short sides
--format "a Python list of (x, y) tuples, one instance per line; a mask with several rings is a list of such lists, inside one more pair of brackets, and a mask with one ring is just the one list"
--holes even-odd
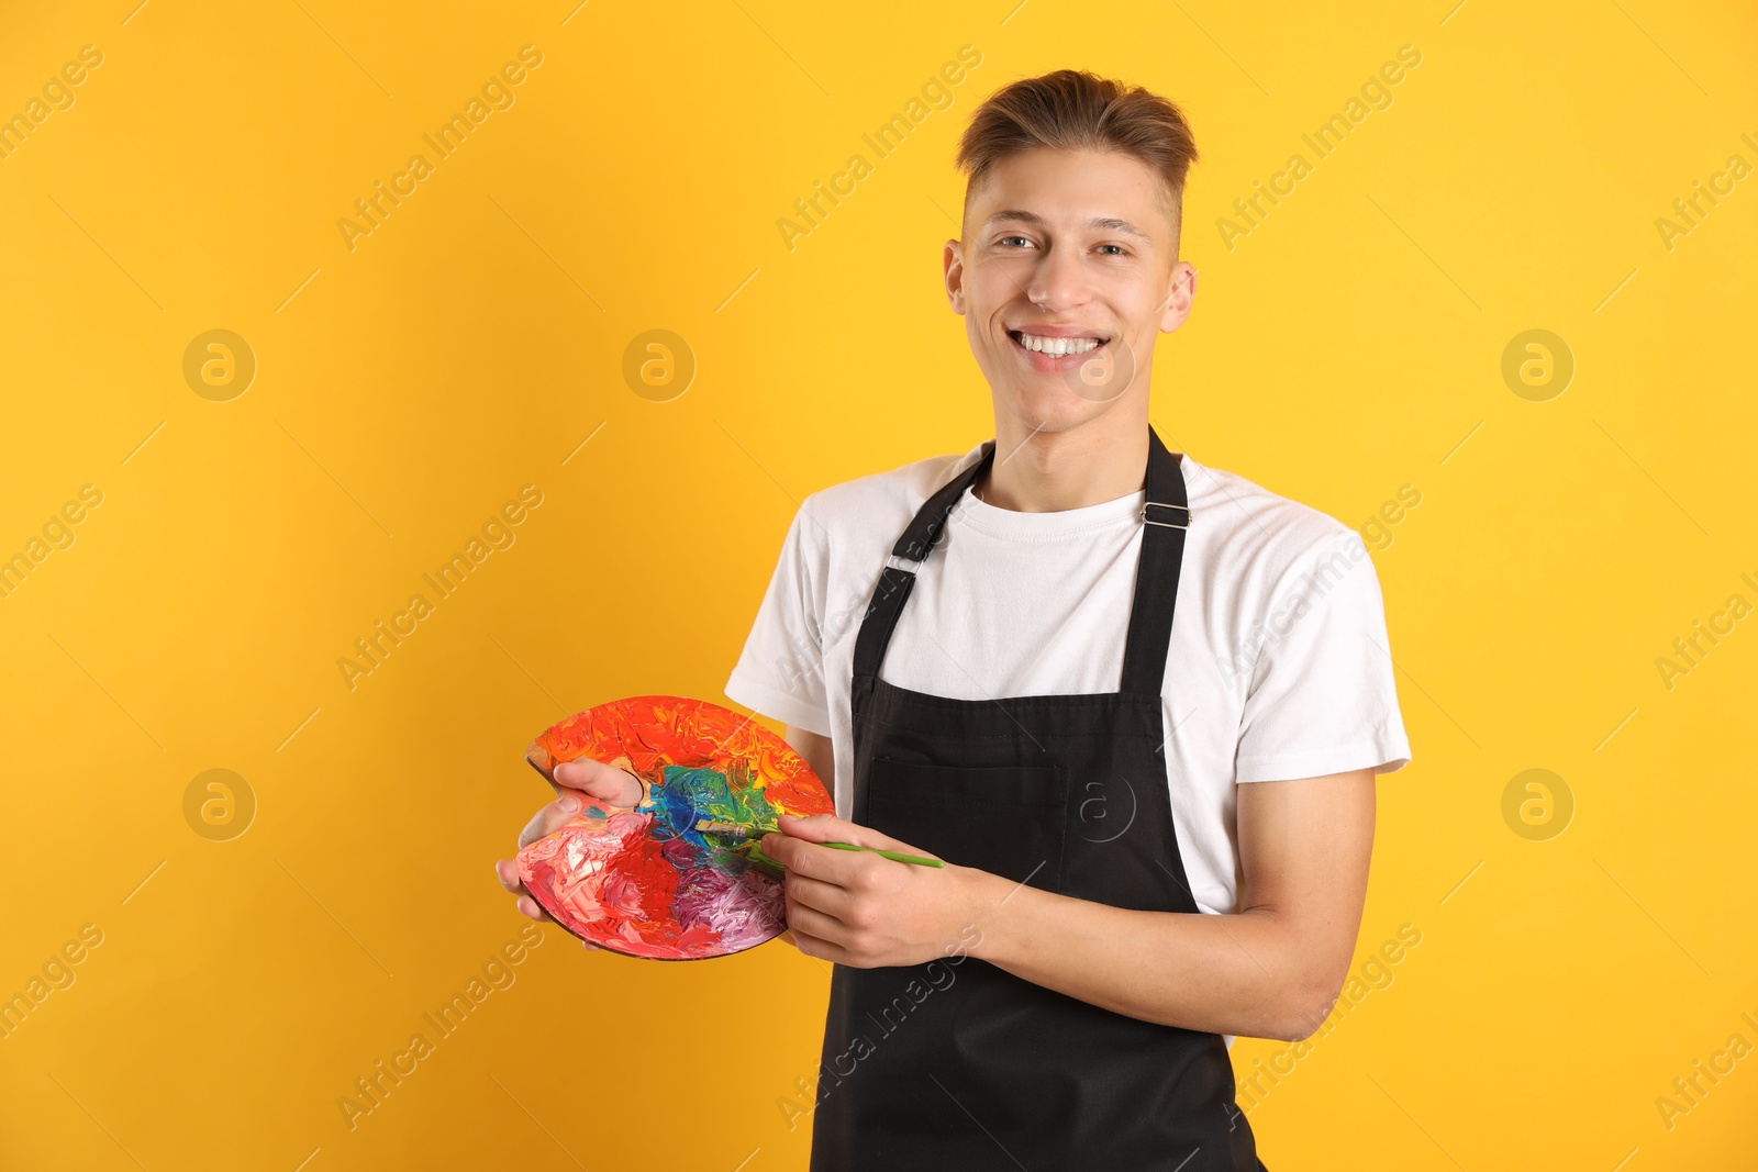
[(1171, 192), (1169, 211), (1178, 227), (1197, 142), (1183, 111), (1167, 98), (1074, 69), (1002, 86), (977, 107), (958, 141), (955, 162), (967, 174), (965, 202), (995, 163), (1039, 146), (1139, 158)]

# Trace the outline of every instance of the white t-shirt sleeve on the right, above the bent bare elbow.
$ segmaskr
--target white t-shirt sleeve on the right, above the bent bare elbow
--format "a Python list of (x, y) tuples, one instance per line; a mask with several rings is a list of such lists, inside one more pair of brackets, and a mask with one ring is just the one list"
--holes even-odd
[(1354, 531), (1296, 559), (1239, 719), (1234, 777), (1276, 782), (1410, 761), (1373, 559)]

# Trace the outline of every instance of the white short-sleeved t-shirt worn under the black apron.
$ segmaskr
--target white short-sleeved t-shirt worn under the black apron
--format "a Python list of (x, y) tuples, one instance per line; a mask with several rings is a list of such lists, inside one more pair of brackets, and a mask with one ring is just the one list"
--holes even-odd
[[(861, 615), (911, 517), (979, 457), (981, 445), (810, 494), (726, 682), (735, 703), (832, 740), (844, 817)], [(1236, 784), (1391, 773), (1410, 745), (1380, 582), (1355, 531), (1188, 455), (1183, 469), (1166, 770), (1195, 903), (1236, 912)], [(879, 676), (956, 699), (1118, 691), (1144, 499), (1020, 513), (967, 488), (916, 569)]]

